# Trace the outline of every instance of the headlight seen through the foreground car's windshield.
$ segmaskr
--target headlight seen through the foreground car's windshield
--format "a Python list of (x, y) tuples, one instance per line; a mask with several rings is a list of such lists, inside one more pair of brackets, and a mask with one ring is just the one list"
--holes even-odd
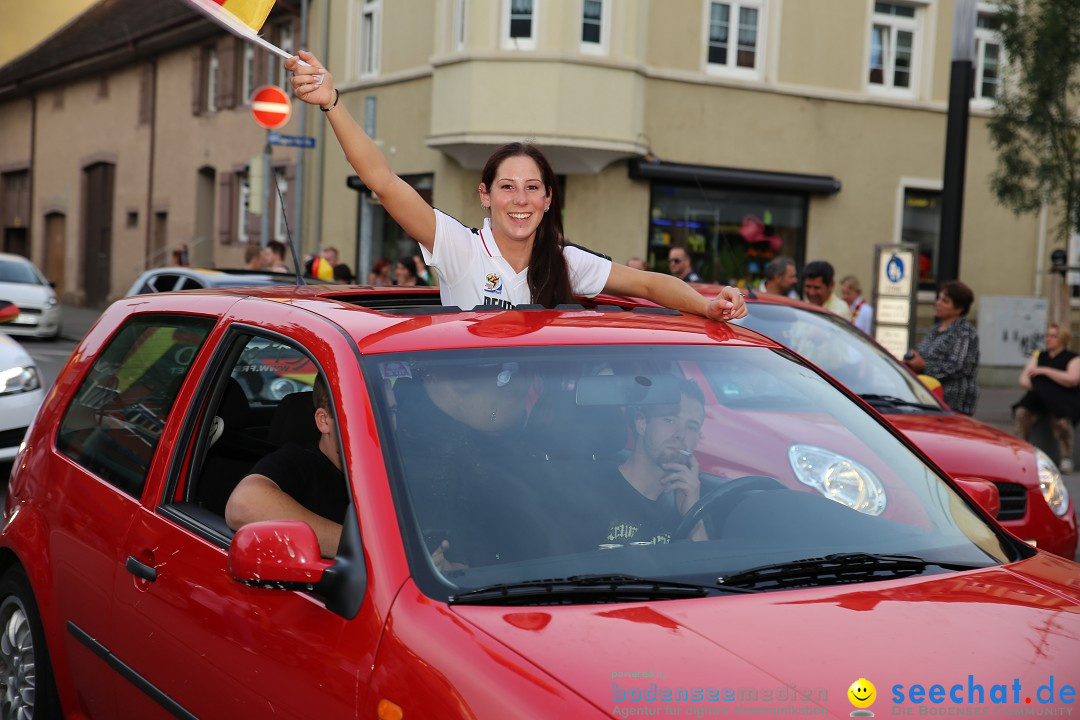
[(866, 515), (885, 512), (885, 486), (865, 465), (812, 445), (793, 445), (787, 459), (800, 483), (829, 500)]

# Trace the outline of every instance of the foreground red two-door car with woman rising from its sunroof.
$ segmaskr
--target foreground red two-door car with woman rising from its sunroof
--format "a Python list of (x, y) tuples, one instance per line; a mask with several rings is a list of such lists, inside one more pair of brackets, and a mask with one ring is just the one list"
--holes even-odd
[[(437, 302), (275, 287), (107, 310), (15, 461), (0, 714), (1075, 702), (1080, 567), (1003, 531), (993, 485), (961, 492), (791, 351), (667, 311)], [(288, 513), (225, 517), (297, 443), (342, 471), (325, 557)]]

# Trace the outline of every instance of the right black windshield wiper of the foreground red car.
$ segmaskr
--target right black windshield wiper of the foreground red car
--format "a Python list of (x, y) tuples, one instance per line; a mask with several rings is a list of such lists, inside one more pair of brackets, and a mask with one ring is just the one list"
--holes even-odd
[(791, 562), (762, 565), (717, 578), (720, 587), (779, 589), (784, 587), (816, 587), (865, 583), (872, 580), (909, 578), (928, 567), (945, 570), (974, 570), (986, 566), (968, 562), (939, 562), (916, 555), (874, 555), (870, 553), (837, 553)]

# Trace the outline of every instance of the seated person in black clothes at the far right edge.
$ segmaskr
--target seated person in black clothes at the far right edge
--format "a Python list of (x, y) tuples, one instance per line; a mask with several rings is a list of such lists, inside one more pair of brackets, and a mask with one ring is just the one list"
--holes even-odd
[(1013, 433), (1025, 440), (1039, 418), (1050, 416), (1063, 473), (1072, 472), (1072, 426), (1080, 419), (1080, 355), (1068, 349), (1071, 339), (1056, 324), (1047, 328), (1047, 349), (1036, 351), (1021, 371), (1027, 392), (1013, 405)]

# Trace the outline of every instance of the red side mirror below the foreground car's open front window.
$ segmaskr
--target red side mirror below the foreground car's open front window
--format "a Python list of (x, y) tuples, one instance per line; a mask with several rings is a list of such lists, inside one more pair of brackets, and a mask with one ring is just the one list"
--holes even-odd
[(229, 544), (229, 574), (253, 587), (312, 590), (334, 565), (319, 552), (319, 538), (301, 520), (245, 525)]

